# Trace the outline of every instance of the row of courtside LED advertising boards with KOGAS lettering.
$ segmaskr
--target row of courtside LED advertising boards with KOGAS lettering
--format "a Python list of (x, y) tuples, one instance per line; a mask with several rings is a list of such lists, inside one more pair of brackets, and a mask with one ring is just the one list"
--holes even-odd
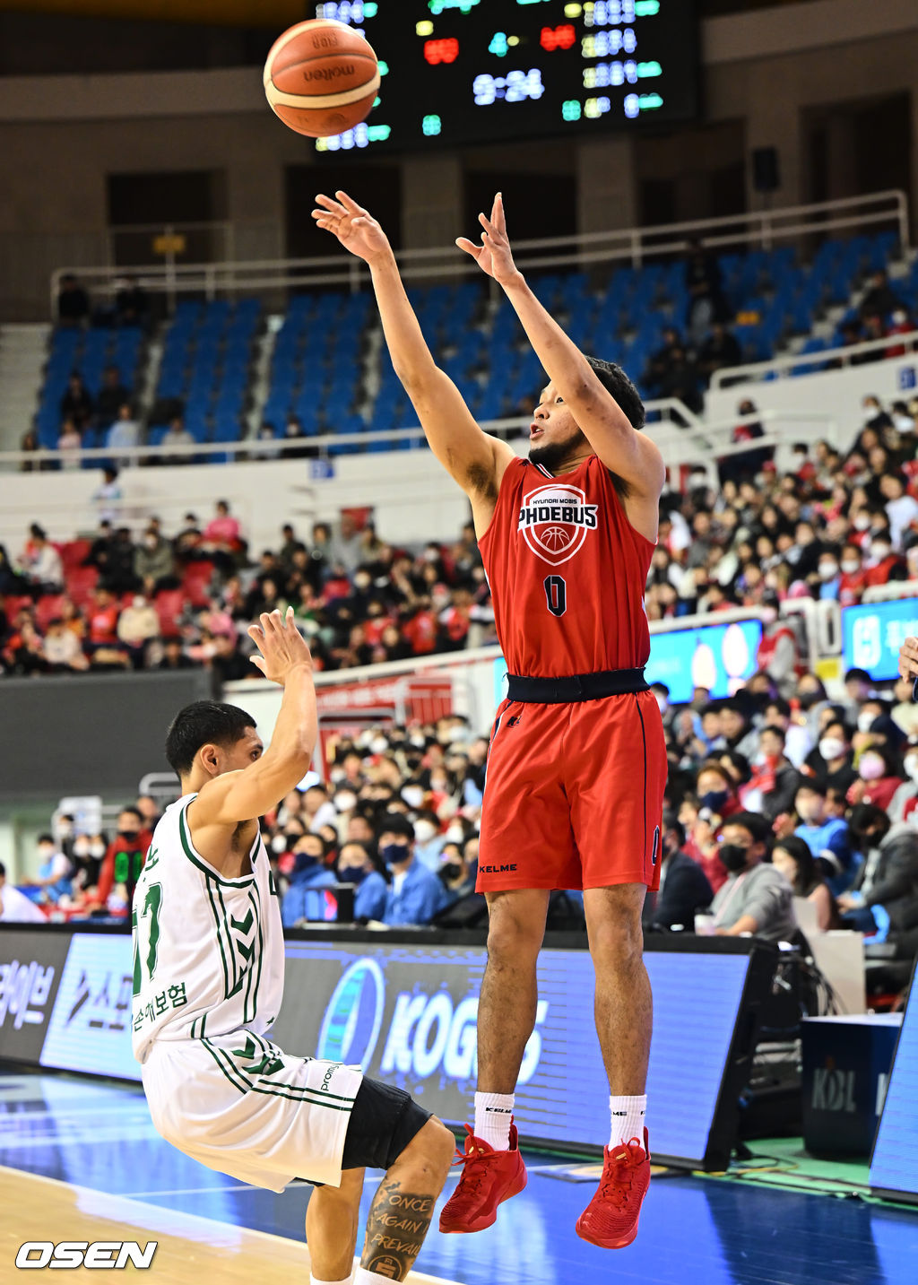
[[(0, 932), (0, 1056), (140, 1079), (131, 1052), (131, 938), (35, 932), (23, 953), (22, 935)], [(751, 956), (655, 944), (645, 952), (655, 995), (647, 1088), (654, 1150), (700, 1164)], [(361, 1065), (460, 1124), (474, 1110), (484, 965), (483, 946), (288, 941), (284, 1004), (271, 1037), (291, 1054)], [(516, 1091), (524, 1137), (606, 1141), (609, 1086), (593, 989), (588, 951), (542, 952), (535, 1029)]]

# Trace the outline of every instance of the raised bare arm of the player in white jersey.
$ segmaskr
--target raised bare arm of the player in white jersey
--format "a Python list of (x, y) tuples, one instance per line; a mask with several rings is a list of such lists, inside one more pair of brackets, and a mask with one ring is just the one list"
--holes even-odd
[[(259, 625), (249, 626), (249, 636), (261, 651), (253, 657), (254, 664), (284, 687), (284, 699), (264, 753), (255, 744), (248, 767), (214, 776), (190, 804), (189, 822), (199, 846), (208, 846), (202, 830), (235, 828), (275, 807), (309, 770), (318, 736), (312, 655), (294, 623), (293, 608), (284, 618), (280, 612), (263, 613)], [(208, 748), (213, 747), (203, 748), (204, 758)]]

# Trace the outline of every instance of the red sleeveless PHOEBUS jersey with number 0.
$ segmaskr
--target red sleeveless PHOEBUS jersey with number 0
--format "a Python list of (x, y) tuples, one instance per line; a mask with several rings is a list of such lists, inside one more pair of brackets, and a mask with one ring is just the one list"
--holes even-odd
[(596, 455), (559, 478), (512, 460), (479, 547), (511, 673), (557, 678), (647, 663), (655, 546), (632, 527)]

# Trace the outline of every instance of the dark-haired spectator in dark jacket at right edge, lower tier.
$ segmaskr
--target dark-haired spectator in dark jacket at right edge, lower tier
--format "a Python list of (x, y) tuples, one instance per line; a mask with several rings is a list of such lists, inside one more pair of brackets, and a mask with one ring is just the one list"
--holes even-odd
[(842, 924), (869, 933), (874, 942), (918, 926), (918, 831), (890, 825), (874, 804), (851, 810), (851, 830), (864, 856), (849, 893), (838, 898)]

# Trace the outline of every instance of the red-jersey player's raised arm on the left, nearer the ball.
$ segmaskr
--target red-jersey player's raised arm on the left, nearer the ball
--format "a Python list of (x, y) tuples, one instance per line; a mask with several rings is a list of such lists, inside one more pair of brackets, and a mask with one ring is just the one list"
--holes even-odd
[(497, 493), (514, 459), (506, 442), (483, 433), (456, 384), (440, 370), (404, 293), (395, 256), (371, 215), (344, 191), (316, 197), (312, 217), (370, 267), (383, 333), (395, 374), (417, 411), (430, 448), (470, 495)]

